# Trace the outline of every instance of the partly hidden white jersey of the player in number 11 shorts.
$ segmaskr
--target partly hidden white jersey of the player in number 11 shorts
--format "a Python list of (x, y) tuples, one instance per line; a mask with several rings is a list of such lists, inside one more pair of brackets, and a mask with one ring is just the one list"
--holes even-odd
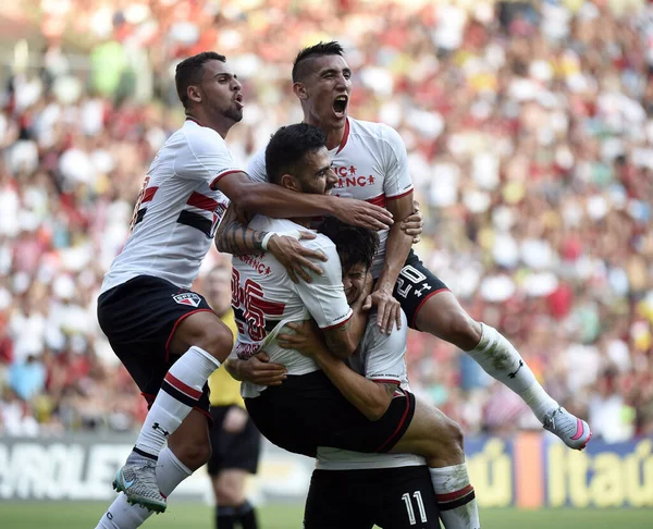
[[(354, 356), (347, 361), (358, 374), (379, 383), (396, 383), (409, 390), (406, 372), (406, 340), (408, 322), (402, 311), (402, 329), (390, 335), (379, 331), (377, 318), (370, 317), (365, 336)], [(362, 454), (346, 450), (319, 447), (316, 468), (320, 470), (362, 470), (426, 465), (423, 457), (414, 454)]]

